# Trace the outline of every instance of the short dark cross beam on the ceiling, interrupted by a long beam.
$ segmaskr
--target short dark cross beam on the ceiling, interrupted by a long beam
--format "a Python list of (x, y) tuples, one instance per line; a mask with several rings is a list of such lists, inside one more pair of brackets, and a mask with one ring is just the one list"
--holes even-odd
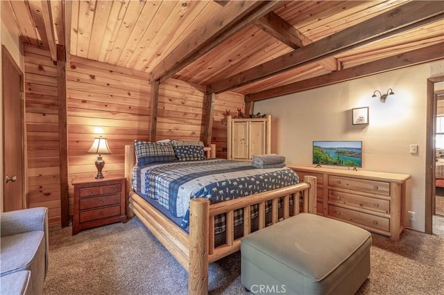
[[(275, 12), (269, 12), (264, 17), (257, 19), (255, 26), (293, 49), (298, 49), (313, 43), (313, 40), (302, 34), (300, 30), (291, 26), (291, 24), (282, 19), (282, 17), (276, 15)], [(318, 64), (321, 64), (321, 66), (330, 71), (337, 70), (336, 58), (334, 57), (327, 57), (325, 60), (320, 60)]]

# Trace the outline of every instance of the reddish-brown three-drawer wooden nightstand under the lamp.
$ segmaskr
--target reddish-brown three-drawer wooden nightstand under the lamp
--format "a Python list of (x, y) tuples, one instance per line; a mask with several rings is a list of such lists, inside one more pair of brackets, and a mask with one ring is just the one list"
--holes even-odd
[(73, 179), (74, 217), (72, 234), (83, 229), (126, 222), (125, 178)]

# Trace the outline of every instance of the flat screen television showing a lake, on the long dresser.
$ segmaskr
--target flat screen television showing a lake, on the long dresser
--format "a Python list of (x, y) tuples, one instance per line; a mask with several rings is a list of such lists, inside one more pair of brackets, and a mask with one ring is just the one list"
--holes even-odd
[(362, 141), (313, 141), (313, 163), (362, 168)]

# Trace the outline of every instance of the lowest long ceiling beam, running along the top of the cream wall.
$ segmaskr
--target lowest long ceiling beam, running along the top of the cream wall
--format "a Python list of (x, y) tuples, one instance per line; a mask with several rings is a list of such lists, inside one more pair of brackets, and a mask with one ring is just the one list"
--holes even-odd
[(309, 78), (307, 80), (294, 82), (282, 87), (276, 87), (273, 89), (266, 89), (264, 91), (247, 94), (245, 96), (245, 102), (266, 100), (268, 98), (275, 98), (277, 96), (284, 96), (290, 93), (296, 93), (308, 89), (314, 89), (330, 84), (362, 78), (368, 75), (375, 75), (377, 73), (401, 69), (406, 66), (413, 66), (414, 64), (422, 64), (424, 62), (442, 60), (444, 59), (443, 45), (443, 43), (439, 43), (432, 46), (409, 51), (407, 53), (401, 53), (398, 55), (393, 55), (391, 57), (386, 57), (382, 60), (375, 60), (373, 62), (368, 62), (359, 66), (353, 66), (352, 68), (343, 69), (341, 71), (336, 71), (333, 73), (320, 75), (318, 77)]

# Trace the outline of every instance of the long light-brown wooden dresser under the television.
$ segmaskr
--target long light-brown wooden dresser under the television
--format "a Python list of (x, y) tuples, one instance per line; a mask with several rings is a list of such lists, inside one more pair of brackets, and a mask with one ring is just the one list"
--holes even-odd
[(399, 240), (404, 230), (406, 182), (410, 175), (287, 165), (316, 176), (318, 215), (355, 224)]

